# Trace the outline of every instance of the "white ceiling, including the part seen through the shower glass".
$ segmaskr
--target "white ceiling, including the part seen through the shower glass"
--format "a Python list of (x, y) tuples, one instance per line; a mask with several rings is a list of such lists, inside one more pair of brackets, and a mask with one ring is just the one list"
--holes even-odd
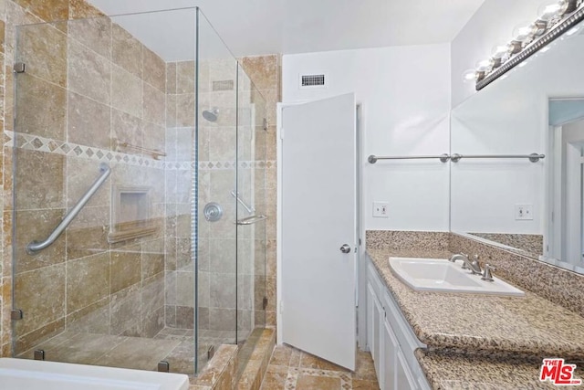
[[(199, 6), (239, 57), (451, 42), (484, 1), (89, 0), (89, 3), (109, 16)], [(126, 16), (116, 22), (166, 60), (193, 58), (192, 12)], [(207, 36), (205, 42), (210, 39)]]

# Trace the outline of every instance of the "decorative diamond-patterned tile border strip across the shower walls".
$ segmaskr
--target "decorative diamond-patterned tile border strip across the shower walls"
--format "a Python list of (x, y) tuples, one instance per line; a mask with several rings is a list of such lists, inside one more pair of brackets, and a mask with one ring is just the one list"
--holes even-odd
[[(167, 162), (155, 160), (149, 157), (113, 152), (107, 149), (99, 149), (92, 146), (80, 145), (73, 142), (63, 142), (52, 140), (33, 134), (23, 134), (20, 132), (10, 132), (5, 130), (4, 146), (26, 149), (31, 151), (55, 153), (68, 157), (78, 157), (103, 163), (126, 163), (135, 166), (144, 166), (155, 169), (165, 169), (168, 171), (189, 171), (193, 170), (196, 164), (187, 162)], [(16, 137), (16, 142), (15, 142)], [(241, 161), (238, 163), (239, 169), (255, 168), (276, 168), (276, 161)], [(200, 171), (210, 170), (230, 170), (235, 169), (234, 161), (201, 161), (198, 163)]]

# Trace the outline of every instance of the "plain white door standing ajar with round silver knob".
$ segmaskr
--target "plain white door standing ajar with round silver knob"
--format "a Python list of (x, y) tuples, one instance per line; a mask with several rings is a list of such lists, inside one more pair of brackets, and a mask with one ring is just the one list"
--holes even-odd
[[(281, 341), (355, 369), (355, 96), (281, 111)], [(344, 253), (344, 252), (347, 253)]]

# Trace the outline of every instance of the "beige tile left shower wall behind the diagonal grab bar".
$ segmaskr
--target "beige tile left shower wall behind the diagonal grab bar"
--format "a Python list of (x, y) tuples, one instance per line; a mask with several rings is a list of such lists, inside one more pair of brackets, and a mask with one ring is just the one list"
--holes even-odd
[[(17, 130), (44, 137), (43, 145), (19, 143), (26, 149), (16, 149), (16, 305), (25, 311), (25, 320), (16, 322), (17, 349), (22, 351), (65, 328), (152, 336), (164, 324), (163, 169), (132, 164), (130, 158), (136, 151), (120, 150), (130, 157), (129, 162), (110, 162), (112, 174), (108, 182), (66, 234), (34, 257), (23, 248), (31, 239), (46, 237), (67, 207), (74, 205), (95, 180), (99, 174), (95, 153), (115, 151), (116, 140), (163, 148), (165, 65), (105, 17), (26, 27), (16, 48), (16, 25), (98, 16), (99, 12), (79, 0), (2, 1), (0, 7), (4, 60), (0, 118), (6, 124), (3, 130), (14, 131), (10, 126), (14, 115), (12, 64), (17, 49), (18, 59), (27, 65), (26, 74), (18, 76), (19, 91), (24, 92), (19, 96), (26, 93), (26, 105), (20, 106)], [(5, 136), (3, 144), (6, 141)], [(63, 142), (91, 150), (64, 155), (63, 150), (56, 149)], [(0, 355), (10, 354), (12, 285), (13, 150), (9, 142), (6, 144), (1, 160), (4, 213)], [(111, 193), (117, 185), (151, 188), (150, 217), (159, 226), (155, 234), (108, 244)]]

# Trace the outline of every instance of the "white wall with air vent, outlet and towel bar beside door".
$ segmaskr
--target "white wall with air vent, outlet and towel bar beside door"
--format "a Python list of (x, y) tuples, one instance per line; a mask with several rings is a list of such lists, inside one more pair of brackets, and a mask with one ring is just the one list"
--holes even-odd
[[(325, 89), (301, 90), (298, 76), (327, 74)], [(449, 229), (447, 163), (380, 161), (367, 156), (449, 153), (450, 46), (381, 47), (285, 55), (284, 102), (354, 91), (362, 105), (365, 229)], [(373, 218), (372, 202), (389, 203), (390, 217)]]

